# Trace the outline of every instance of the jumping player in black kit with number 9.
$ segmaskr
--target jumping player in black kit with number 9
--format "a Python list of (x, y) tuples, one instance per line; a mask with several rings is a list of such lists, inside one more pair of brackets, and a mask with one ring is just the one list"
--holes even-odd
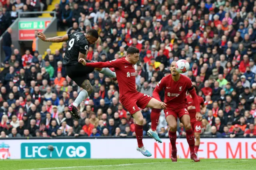
[[(68, 41), (68, 46), (65, 52), (65, 56), (63, 58), (63, 65), (65, 65), (65, 70), (68, 77), (76, 82), (79, 87), (83, 88), (74, 103), (71, 103), (68, 106), (68, 109), (70, 110), (74, 118), (79, 119), (77, 107), (84, 99), (86, 99), (92, 93), (92, 85), (88, 80), (88, 74), (92, 73), (92, 71), (94, 70), (98, 70), (100, 73), (116, 79), (116, 73), (112, 72), (109, 68), (101, 69), (86, 67), (78, 62), (80, 58), (86, 59), (89, 43), (94, 44), (98, 40), (98, 32), (94, 29), (90, 29), (86, 34), (83, 34), (81, 32), (73, 32), (72, 34), (66, 34), (64, 36), (57, 36), (53, 38), (46, 38), (46, 36), (42, 32), (38, 32), (37, 36), (44, 42)], [(88, 62), (90, 63), (94, 61)]]

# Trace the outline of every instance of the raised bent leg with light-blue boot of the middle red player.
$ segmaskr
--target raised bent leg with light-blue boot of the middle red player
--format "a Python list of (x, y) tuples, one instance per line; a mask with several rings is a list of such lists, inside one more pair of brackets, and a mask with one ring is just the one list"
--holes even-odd
[(151, 128), (148, 130), (147, 134), (148, 136), (151, 136), (154, 138), (156, 141), (162, 143), (162, 140), (159, 138), (157, 132), (156, 132), (156, 127), (158, 125), (158, 120), (160, 117), (160, 111), (161, 111), (161, 102), (151, 98), (146, 107), (151, 107), (152, 111), (150, 114), (150, 119), (151, 119)]

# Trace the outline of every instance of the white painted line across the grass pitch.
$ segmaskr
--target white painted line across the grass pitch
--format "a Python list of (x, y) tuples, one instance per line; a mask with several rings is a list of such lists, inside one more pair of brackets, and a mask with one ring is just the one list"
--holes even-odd
[[(232, 162), (232, 160), (213, 160), (207, 162)], [(248, 160), (238, 160), (248, 161)], [(160, 164), (160, 163), (190, 163), (187, 161), (179, 162), (149, 162), (149, 163), (136, 163), (136, 164), (117, 164), (117, 165), (96, 165), (96, 166), (70, 166), (70, 167), (55, 167), (55, 168), (36, 168), (36, 169), (25, 169), (25, 170), (48, 170), (48, 169), (64, 169), (64, 168), (92, 168), (92, 167), (106, 167), (106, 166), (129, 166), (129, 165), (142, 165), (142, 164)]]

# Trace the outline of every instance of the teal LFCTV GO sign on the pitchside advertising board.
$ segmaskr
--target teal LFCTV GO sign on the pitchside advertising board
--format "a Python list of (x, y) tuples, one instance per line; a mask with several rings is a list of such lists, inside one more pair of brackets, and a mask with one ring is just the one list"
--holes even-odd
[[(48, 145), (54, 146), (52, 152)], [(22, 143), (21, 158), (90, 158), (90, 148), (89, 142)]]

